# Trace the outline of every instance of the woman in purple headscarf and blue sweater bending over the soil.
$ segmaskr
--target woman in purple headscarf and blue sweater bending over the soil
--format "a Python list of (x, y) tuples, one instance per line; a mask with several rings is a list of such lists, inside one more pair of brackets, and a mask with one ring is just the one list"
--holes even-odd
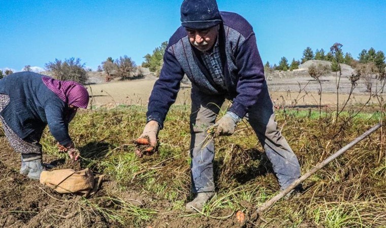
[(87, 104), (88, 92), (76, 82), (34, 72), (13, 73), (0, 80), (0, 120), (11, 147), (21, 153), (21, 174), (39, 180), (44, 170), (39, 142), (47, 124), (59, 149), (71, 159), (79, 158), (68, 125), (78, 108)]

